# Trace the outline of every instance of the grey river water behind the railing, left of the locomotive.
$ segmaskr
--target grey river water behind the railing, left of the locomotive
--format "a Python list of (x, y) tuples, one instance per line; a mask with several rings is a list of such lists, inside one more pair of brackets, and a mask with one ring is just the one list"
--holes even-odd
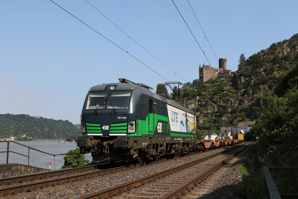
[[(70, 142), (58, 142), (58, 141), (15, 141), (17, 143), (30, 146), (32, 148), (38, 149), (43, 152), (51, 154), (65, 154), (69, 150), (78, 148), (76, 143)], [(7, 151), (7, 143), (0, 142), (0, 151)], [(21, 146), (15, 143), (9, 143), (9, 151), (17, 152), (23, 155), (28, 155), (28, 148)], [(0, 153), (0, 164), (6, 163), (7, 153)], [(64, 164), (63, 157), (65, 155), (56, 155), (55, 156), (55, 165), (54, 165), (54, 156), (44, 154), (33, 149), (30, 149), (29, 152), (29, 165), (36, 166), (44, 169), (49, 169), (49, 162), (51, 163), (51, 169), (60, 169)], [(86, 159), (92, 160), (91, 154), (85, 154)], [(18, 155), (15, 153), (9, 153), (8, 163), (20, 163), (28, 165), (28, 157)]]

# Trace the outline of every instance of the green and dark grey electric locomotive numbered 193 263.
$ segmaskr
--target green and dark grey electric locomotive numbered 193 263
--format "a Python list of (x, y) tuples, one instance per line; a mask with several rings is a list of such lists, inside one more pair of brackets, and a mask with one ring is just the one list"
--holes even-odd
[(145, 161), (196, 149), (191, 109), (124, 78), (91, 87), (84, 101), (80, 153), (94, 161)]

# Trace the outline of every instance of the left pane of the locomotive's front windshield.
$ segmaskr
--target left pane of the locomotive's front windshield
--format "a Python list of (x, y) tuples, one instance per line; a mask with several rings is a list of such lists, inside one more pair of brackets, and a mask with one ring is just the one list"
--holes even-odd
[(104, 109), (107, 97), (108, 91), (90, 92), (86, 109)]

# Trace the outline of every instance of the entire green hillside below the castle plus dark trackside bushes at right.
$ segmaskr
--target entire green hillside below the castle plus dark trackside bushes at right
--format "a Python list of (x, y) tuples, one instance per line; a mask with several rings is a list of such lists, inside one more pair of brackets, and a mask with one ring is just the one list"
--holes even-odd
[[(247, 59), (241, 54), (232, 77), (201, 84), (196, 79), (180, 94), (178, 100), (186, 99), (197, 116), (198, 138), (219, 127), (255, 121), (245, 135), (246, 140), (258, 140), (257, 155), (241, 165), (237, 191), (243, 198), (264, 197), (262, 166), (298, 166), (298, 34)], [(272, 174), (280, 192), (298, 192), (297, 171)]]

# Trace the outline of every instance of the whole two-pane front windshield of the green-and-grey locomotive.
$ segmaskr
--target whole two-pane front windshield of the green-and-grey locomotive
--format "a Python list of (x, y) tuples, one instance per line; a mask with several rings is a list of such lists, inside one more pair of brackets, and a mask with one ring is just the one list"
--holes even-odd
[(86, 109), (128, 109), (131, 91), (90, 92)]

